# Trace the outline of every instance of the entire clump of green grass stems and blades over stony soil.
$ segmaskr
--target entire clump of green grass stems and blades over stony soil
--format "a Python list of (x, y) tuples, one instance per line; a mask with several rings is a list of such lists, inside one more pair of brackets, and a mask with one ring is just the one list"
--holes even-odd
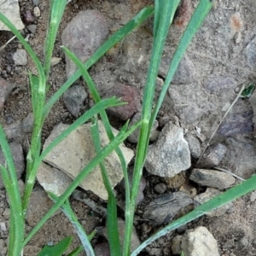
[[(138, 193), (139, 183), (143, 174), (143, 165), (148, 151), (148, 141), (149, 133), (157, 113), (160, 110), (160, 106), (166, 95), (166, 90), (171, 84), (172, 77), (177, 69), (179, 62), (181, 61), (185, 50), (187, 49), (189, 43), (195, 35), (195, 32), (200, 28), (201, 23), (205, 19), (207, 13), (212, 8), (212, 1), (201, 0), (195, 9), (194, 14), (189, 21), (185, 32), (183, 32), (183, 37), (180, 39), (177, 49), (173, 55), (172, 63), (170, 63), (170, 68), (166, 76), (165, 83), (160, 92), (158, 101), (154, 106), (154, 94), (155, 94), (155, 84), (157, 79), (158, 70), (160, 67), (160, 60), (163, 54), (163, 49), (166, 43), (166, 36), (169, 32), (169, 27), (172, 24), (173, 17), (175, 15), (179, 0), (173, 1), (162, 1), (155, 0), (154, 8), (147, 7), (140, 11), (140, 13), (129, 21), (125, 26), (123, 26), (118, 32), (115, 32), (108, 41), (106, 41), (102, 46), (96, 50), (96, 52), (90, 57), (85, 63), (81, 63), (79, 58), (73, 53), (65, 48), (65, 54), (79, 67), (79, 70), (73, 74), (73, 76), (67, 80), (65, 84), (61, 86), (59, 90), (55, 92), (54, 96), (51, 96), (48, 102), (46, 102), (47, 94), (47, 81), (49, 79), (50, 72), (50, 59), (55, 46), (55, 38), (59, 29), (61, 22), (61, 17), (64, 13), (66, 6), (66, 1), (52, 0), (50, 1), (50, 17), (49, 17), (49, 29), (47, 38), (44, 44), (44, 63), (38, 60), (37, 55), (33, 52), (29, 44), (26, 43), (24, 38), (15, 29), (9, 20), (7, 20), (2, 14), (0, 14), (0, 20), (9, 27), (9, 29), (15, 34), (15, 36), (23, 44), (27, 53), (31, 56), (32, 61), (38, 70), (38, 76), (29, 73), (30, 85), (31, 85), (31, 95), (32, 95), (32, 112), (34, 115), (34, 126), (32, 131), (32, 140), (30, 143), (30, 149), (26, 156), (26, 185), (25, 193), (23, 196), (20, 195), (20, 190), (17, 182), (14, 160), (9, 148), (9, 144), (3, 132), (3, 127), (0, 125), (0, 145), (3, 150), (3, 154), (6, 159), (6, 165), (1, 166), (1, 177), (7, 194), (9, 196), (10, 205), (10, 229), (9, 229), (9, 256), (20, 256), (22, 254), (23, 248), (26, 246), (27, 242), (31, 240), (32, 236), (42, 227), (42, 225), (49, 219), (52, 214), (61, 207), (62, 211), (67, 215), (67, 218), (73, 224), (75, 230), (77, 231), (82, 246), (77, 248), (69, 255), (78, 255), (79, 252), (84, 250), (87, 255), (95, 255), (93, 248), (90, 245), (90, 239), (93, 234), (88, 236), (85, 234), (82, 226), (75, 217), (72, 208), (69, 205), (68, 198), (73, 193), (81, 183), (81, 181), (86, 178), (86, 176), (97, 166), (101, 166), (102, 177), (105, 187), (108, 191), (108, 213), (107, 213), (107, 226), (108, 226), (108, 238), (111, 255), (137, 255), (143, 248), (148, 246), (152, 241), (159, 238), (160, 236), (166, 235), (166, 233), (177, 229), (177, 227), (188, 223), (189, 221), (200, 217), (206, 212), (212, 211), (213, 209), (224, 205), (225, 203), (236, 199), (237, 197), (246, 194), (256, 188), (256, 177), (251, 177), (246, 182), (237, 185), (236, 187), (226, 191), (222, 195), (218, 195), (211, 201), (207, 201), (200, 207), (195, 208), (194, 211), (189, 212), (189, 214), (177, 219), (176, 221), (168, 224), (166, 228), (158, 231), (154, 236), (148, 238), (148, 240), (143, 241), (143, 243), (134, 252), (131, 252), (131, 231), (134, 218), (134, 212), (136, 208), (136, 199)], [(109, 49), (111, 49), (120, 40), (125, 38), (130, 32), (132, 32), (137, 26), (140, 26), (144, 20), (148, 19), (149, 16), (154, 15), (154, 40), (152, 46), (151, 61), (148, 67), (148, 77), (147, 82), (143, 91), (143, 111), (142, 118), (137, 124), (132, 125), (128, 129), (128, 123), (126, 123), (122, 129), (119, 131), (117, 136), (113, 136), (111, 127), (108, 121), (106, 108), (120, 106), (123, 102), (115, 97), (102, 100), (93, 80), (90, 78), (88, 69), (98, 61), (102, 55), (105, 55)], [(62, 94), (77, 80), (82, 76), (85, 83), (90, 90), (90, 95), (92, 96), (95, 106), (90, 108), (86, 113), (84, 113), (79, 119), (77, 119), (73, 125), (70, 125), (66, 131), (63, 131), (61, 135), (49, 144), (48, 148), (42, 151), (41, 148), (41, 133), (42, 127), (44, 125), (44, 120), (47, 117), (50, 109), (53, 107), (55, 102), (57, 102)], [(101, 148), (100, 144), (100, 134), (97, 126), (97, 119), (102, 119), (102, 123), (108, 134), (110, 143)], [(49, 193), (50, 198), (55, 201), (55, 205), (51, 207), (49, 212), (47, 212), (44, 217), (35, 225), (35, 227), (30, 231), (29, 234), (25, 234), (25, 218), (26, 210), (31, 197), (32, 189), (36, 180), (36, 174), (38, 166), (40, 166), (42, 160), (49, 151), (54, 148), (58, 143), (67, 137), (72, 131), (74, 131), (79, 125), (84, 122), (91, 120), (91, 133), (94, 139), (94, 144), (96, 148), (97, 155), (91, 160), (90, 164), (84, 166), (81, 170), (79, 176), (73, 180), (73, 183), (69, 188), (60, 196), (57, 197)], [(137, 143), (137, 153), (134, 165), (134, 174), (131, 182), (131, 189), (127, 174), (127, 167), (125, 165), (124, 156), (119, 149), (120, 143), (122, 143), (126, 137), (131, 135), (131, 133), (140, 127), (139, 141)], [(124, 244), (121, 245), (119, 241), (118, 232), (118, 222), (117, 222), (117, 207), (116, 200), (113, 194), (113, 189), (108, 180), (108, 175), (103, 164), (103, 160), (108, 154), (113, 150), (119, 156), (121, 162), (122, 170), (125, 177), (125, 240)], [(64, 238), (63, 241), (55, 245), (54, 247), (45, 247), (41, 253), (38, 255), (61, 255), (67, 249), (71, 238)], [(45, 250), (45, 251), (44, 251)], [(46, 252), (46, 253), (45, 253)]]

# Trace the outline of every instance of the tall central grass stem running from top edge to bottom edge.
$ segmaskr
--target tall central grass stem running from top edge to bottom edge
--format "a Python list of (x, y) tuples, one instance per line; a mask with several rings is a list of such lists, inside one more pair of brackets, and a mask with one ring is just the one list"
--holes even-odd
[(135, 160), (132, 187), (131, 187), (131, 202), (129, 207), (129, 214), (125, 219), (125, 241), (124, 241), (124, 255), (130, 255), (131, 248), (131, 232), (133, 224), (133, 216), (136, 206), (137, 192), (139, 183), (143, 174), (143, 165), (148, 150), (148, 140), (150, 128), (148, 123), (151, 116), (152, 105), (154, 100), (155, 84), (158, 70), (160, 67), (160, 59), (163, 53), (166, 36), (169, 31), (170, 20), (172, 20), (179, 0), (176, 1), (160, 1), (157, 2), (156, 21), (154, 22), (154, 44), (150, 58), (150, 66), (148, 68), (147, 84), (143, 93), (143, 123), (140, 130), (139, 141), (137, 144), (137, 158)]

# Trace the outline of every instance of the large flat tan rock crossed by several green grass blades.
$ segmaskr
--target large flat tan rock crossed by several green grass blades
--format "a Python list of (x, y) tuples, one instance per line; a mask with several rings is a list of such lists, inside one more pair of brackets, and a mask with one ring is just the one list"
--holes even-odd
[[(77, 177), (79, 172), (92, 160), (96, 152), (94, 150), (94, 143), (90, 135), (90, 125), (79, 126), (61, 143), (59, 143), (49, 154), (46, 155), (44, 161), (51, 166), (55, 166), (62, 172), (65, 172), (69, 177)], [(102, 121), (98, 121), (99, 130), (102, 139), (102, 147), (109, 143), (106, 131), (102, 125)], [(69, 125), (59, 124), (56, 125), (54, 131), (47, 138), (44, 143), (46, 148), (55, 137), (66, 130)], [(118, 131), (113, 129), (113, 133), (117, 134)], [(126, 163), (128, 164), (132, 159), (134, 153), (130, 148), (125, 148), (124, 144), (120, 148), (125, 156)], [(105, 160), (105, 165), (108, 172), (110, 183), (114, 187), (123, 178), (123, 172), (119, 163), (119, 158), (115, 152), (108, 155)], [(99, 166), (90, 172), (90, 174), (80, 183), (80, 187), (85, 190), (91, 190), (96, 195), (100, 196), (103, 200), (108, 199), (108, 194), (102, 181), (102, 172)]]

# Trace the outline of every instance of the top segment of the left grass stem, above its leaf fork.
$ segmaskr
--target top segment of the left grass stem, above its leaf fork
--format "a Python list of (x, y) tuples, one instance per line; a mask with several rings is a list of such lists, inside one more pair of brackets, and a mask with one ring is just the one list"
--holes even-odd
[(61, 23), (61, 17), (66, 7), (66, 1), (51, 0), (49, 27), (44, 44), (44, 73), (49, 78), (50, 59), (55, 46), (55, 38)]

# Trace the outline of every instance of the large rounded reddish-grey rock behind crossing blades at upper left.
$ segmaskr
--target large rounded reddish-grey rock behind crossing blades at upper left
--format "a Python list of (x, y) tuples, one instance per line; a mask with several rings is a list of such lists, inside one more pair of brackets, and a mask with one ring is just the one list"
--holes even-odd
[[(62, 32), (62, 44), (79, 56), (84, 62), (108, 38), (108, 22), (101, 12), (85, 10), (79, 12)], [(66, 56), (67, 79), (77, 70), (77, 67)]]

